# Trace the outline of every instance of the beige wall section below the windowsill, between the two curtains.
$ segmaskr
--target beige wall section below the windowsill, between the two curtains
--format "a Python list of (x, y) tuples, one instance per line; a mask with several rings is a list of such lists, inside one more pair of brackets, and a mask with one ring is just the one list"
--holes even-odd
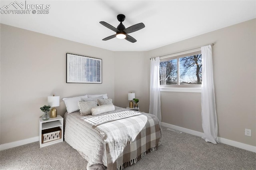
[(162, 122), (203, 132), (201, 93), (161, 92)]

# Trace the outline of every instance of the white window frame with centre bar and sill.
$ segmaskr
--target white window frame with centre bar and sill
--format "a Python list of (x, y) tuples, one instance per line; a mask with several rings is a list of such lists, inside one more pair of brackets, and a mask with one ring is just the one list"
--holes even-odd
[(171, 59), (177, 59), (177, 84), (176, 85), (160, 85), (160, 91), (201, 93), (202, 84), (180, 85), (180, 58), (187, 57), (190, 55), (197, 55), (197, 54), (202, 54), (201, 48), (196, 48), (193, 50), (183, 51), (180, 53), (174, 53), (172, 55), (166, 55), (164, 57), (160, 57), (160, 62), (168, 61)]

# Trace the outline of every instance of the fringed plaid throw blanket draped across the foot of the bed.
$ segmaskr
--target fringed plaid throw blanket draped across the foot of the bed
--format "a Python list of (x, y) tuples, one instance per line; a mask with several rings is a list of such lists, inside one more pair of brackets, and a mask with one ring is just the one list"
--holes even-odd
[(160, 145), (160, 123), (151, 114), (121, 110), (84, 121), (100, 132), (106, 142), (108, 170), (122, 170), (135, 164)]

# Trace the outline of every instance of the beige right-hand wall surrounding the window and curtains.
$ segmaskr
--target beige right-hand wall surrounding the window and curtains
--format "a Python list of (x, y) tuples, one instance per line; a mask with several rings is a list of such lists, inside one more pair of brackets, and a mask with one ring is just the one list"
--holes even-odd
[[(215, 43), (218, 136), (256, 146), (256, 19), (147, 51), (147, 56), (210, 43)], [(161, 92), (161, 102), (162, 122), (202, 132), (200, 93)], [(244, 128), (252, 130), (251, 137), (244, 135)]]

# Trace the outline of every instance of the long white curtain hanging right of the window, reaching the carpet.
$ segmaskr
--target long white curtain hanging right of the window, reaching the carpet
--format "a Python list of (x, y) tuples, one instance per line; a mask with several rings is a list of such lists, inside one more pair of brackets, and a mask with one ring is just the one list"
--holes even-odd
[(212, 71), (212, 46), (201, 47), (202, 52), (202, 127), (206, 142), (218, 142), (218, 124), (215, 107)]

